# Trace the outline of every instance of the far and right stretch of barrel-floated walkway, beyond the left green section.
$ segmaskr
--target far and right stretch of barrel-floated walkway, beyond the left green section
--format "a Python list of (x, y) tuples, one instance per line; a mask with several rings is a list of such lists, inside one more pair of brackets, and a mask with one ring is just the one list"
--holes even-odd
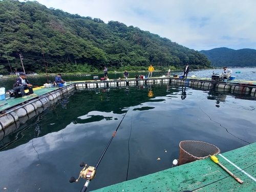
[(153, 77), (147, 79), (120, 79), (109, 81), (72, 81), (76, 83), (76, 89), (91, 89), (91, 88), (111, 88), (123, 86), (141, 86), (143, 84), (178, 84), (180, 86), (189, 86), (200, 89), (215, 89), (216, 91), (231, 92), (237, 94), (249, 94), (252, 97), (256, 96), (256, 81), (246, 80), (228, 80), (214, 81), (211, 78), (175, 78), (175, 77)]

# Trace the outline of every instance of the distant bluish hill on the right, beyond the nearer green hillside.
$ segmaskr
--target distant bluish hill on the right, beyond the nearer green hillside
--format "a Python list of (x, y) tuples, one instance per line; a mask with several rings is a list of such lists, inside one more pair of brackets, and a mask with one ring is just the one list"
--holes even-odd
[(214, 67), (256, 67), (256, 50), (228, 48), (215, 48), (208, 51), (200, 51)]

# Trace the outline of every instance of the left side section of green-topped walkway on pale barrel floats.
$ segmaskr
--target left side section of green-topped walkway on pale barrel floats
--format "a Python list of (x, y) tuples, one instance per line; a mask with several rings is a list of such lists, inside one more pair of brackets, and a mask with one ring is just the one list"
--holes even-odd
[[(75, 90), (75, 84), (62, 88), (44, 88), (42, 86), (33, 90), (37, 96), (9, 98), (0, 101), (0, 140), (16, 131), (20, 124), (24, 124), (33, 116), (44, 111), (47, 106), (63, 98), (63, 95)], [(25, 92), (28, 92), (28, 90)]]

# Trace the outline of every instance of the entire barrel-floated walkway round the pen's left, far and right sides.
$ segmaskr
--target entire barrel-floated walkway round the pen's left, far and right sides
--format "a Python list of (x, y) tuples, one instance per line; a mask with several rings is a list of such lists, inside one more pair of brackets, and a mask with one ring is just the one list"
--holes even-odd
[[(177, 84), (178, 86), (188, 86), (203, 90), (215, 89), (220, 92), (231, 92), (237, 94), (247, 94), (256, 97), (256, 81), (231, 80), (231, 81), (214, 81), (210, 78), (187, 78), (181, 79), (176, 77), (153, 77), (146, 79), (113, 79), (108, 81), (87, 80), (87, 81), (70, 81), (65, 87), (44, 86), (35, 88), (34, 92), (38, 95), (29, 98), (8, 99), (0, 102), (0, 140), (4, 136), (18, 129), (18, 123), (25, 123), (26, 120), (40, 113), (46, 106), (57, 102), (63, 94), (73, 90), (142, 86), (151, 84)], [(16, 122), (16, 123), (15, 123)], [(11, 125), (10, 130), (6, 129)], [(4, 130), (4, 133), (1, 131)]]

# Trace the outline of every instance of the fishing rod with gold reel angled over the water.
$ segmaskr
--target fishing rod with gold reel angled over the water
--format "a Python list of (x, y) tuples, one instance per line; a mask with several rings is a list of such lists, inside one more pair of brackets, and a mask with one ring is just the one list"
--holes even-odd
[[(129, 109), (130, 109), (130, 108), (128, 108), (127, 112), (129, 111)], [(127, 112), (124, 114), (123, 118), (125, 117), (125, 115), (127, 114)], [(84, 163), (84, 162), (81, 162), (81, 163), (80, 163), (80, 167), (83, 167), (83, 168), (82, 168), (82, 170), (81, 170), (81, 172), (80, 172), (80, 174), (79, 174), (79, 177), (78, 177), (77, 179), (74, 178), (74, 177), (71, 177), (71, 178), (70, 178), (70, 180), (69, 180), (70, 183), (78, 182), (78, 180), (79, 180), (81, 177), (82, 177), (83, 179), (86, 179), (86, 183), (84, 183), (84, 185), (83, 185), (83, 187), (82, 187), (82, 189), (81, 189), (80, 192), (85, 192), (85, 191), (87, 190), (88, 185), (90, 184), (91, 180), (94, 179), (95, 174), (96, 174), (96, 170), (97, 170), (97, 168), (98, 168), (98, 166), (99, 166), (99, 163), (100, 163), (100, 161), (102, 160), (103, 156), (105, 155), (106, 150), (108, 150), (108, 147), (110, 146), (111, 141), (112, 141), (113, 138), (115, 137), (116, 132), (117, 132), (117, 130), (118, 130), (120, 124), (121, 124), (122, 121), (123, 121), (123, 118), (122, 118), (122, 120), (120, 121), (119, 125), (117, 126), (116, 131), (113, 133), (112, 137), (110, 138), (110, 141), (108, 142), (108, 144), (107, 144), (106, 147), (104, 148), (104, 151), (102, 152), (102, 154), (101, 154), (101, 156), (100, 156), (98, 162), (96, 163), (95, 167), (89, 166), (88, 168), (86, 168), (86, 167), (87, 167), (87, 164)]]

